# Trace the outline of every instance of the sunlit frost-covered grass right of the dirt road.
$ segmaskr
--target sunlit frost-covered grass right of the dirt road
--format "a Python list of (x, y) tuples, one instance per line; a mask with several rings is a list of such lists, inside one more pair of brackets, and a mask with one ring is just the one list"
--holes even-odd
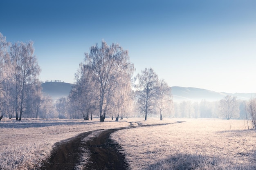
[(243, 120), (170, 120), (186, 122), (111, 135), (132, 170), (256, 170), (256, 131)]

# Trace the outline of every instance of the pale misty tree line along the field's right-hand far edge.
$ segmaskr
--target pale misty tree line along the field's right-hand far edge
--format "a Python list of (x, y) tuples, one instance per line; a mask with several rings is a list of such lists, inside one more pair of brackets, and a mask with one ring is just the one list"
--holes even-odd
[[(174, 102), (171, 117), (245, 119), (247, 128), (256, 128), (256, 97), (238, 100), (236, 96), (226, 95), (220, 101)], [(251, 123), (249, 123), (251, 122)]]

